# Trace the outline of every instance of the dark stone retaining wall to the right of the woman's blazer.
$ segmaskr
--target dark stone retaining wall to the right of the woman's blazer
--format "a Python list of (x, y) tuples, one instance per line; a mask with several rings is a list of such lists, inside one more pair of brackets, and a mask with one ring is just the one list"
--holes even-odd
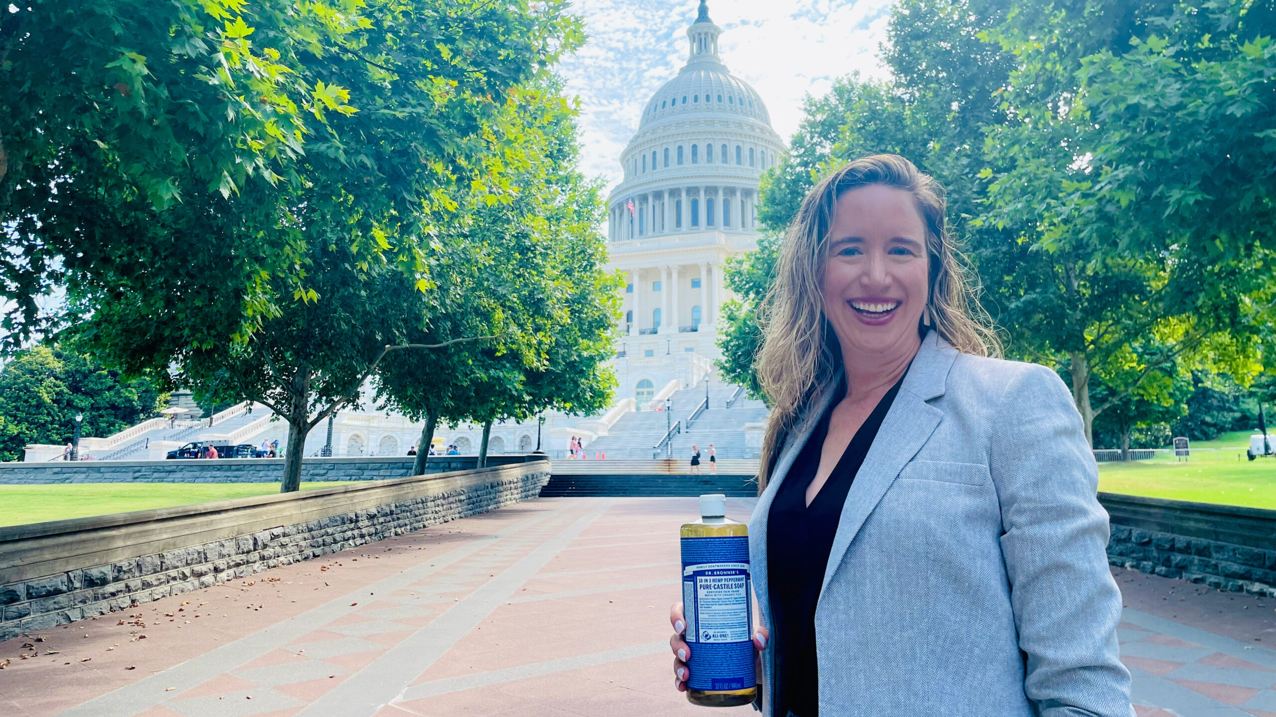
[(1276, 597), (1276, 510), (1101, 492), (1108, 561), (1212, 588)]

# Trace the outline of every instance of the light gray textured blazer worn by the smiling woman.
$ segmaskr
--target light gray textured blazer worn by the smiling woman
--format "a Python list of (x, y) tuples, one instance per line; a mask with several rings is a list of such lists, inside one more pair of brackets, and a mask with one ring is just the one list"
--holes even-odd
[[(789, 436), (749, 522), (766, 625), (767, 514), (832, 393)], [(1097, 484), (1054, 371), (928, 334), (828, 558), (815, 609), (820, 714), (1133, 714)], [(767, 717), (775, 642), (763, 653)]]

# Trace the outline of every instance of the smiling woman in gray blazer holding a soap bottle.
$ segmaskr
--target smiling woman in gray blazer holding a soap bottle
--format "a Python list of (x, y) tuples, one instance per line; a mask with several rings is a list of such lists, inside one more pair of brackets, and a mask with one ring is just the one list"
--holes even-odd
[(989, 357), (972, 305), (907, 159), (856, 159), (804, 200), (758, 360), (767, 717), (1133, 713), (1081, 417), (1054, 371)]

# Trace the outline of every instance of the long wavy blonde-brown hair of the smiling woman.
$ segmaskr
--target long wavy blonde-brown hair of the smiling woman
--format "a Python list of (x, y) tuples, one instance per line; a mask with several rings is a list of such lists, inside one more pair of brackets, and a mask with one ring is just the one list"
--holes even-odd
[[(835, 390), (842, 371), (837, 336), (824, 318), (824, 262), (837, 199), (861, 186), (883, 185), (912, 195), (926, 225), (930, 299), (934, 329), (957, 351), (999, 356), (997, 333), (966, 278), (963, 258), (946, 222), (944, 190), (933, 177), (898, 154), (861, 157), (817, 184), (789, 225), (776, 282), (760, 306), (763, 343), (757, 371), (771, 402), (758, 492), (767, 487), (773, 459), (787, 432), (806, 408)], [(925, 329), (919, 325), (919, 332)]]

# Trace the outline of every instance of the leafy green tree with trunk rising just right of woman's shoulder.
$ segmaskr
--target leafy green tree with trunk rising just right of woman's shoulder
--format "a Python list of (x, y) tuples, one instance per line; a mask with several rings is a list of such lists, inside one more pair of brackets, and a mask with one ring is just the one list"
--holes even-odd
[[(1134, 32), (1171, 22), (1137, 13), (1123, 17)], [(989, 130), (989, 159), (1003, 171), (983, 172), (995, 180), (988, 189), (988, 211), (976, 225), (1009, 230), (1013, 241), (981, 246), (977, 260), (997, 297), (997, 319), (1020, 351), (1039, 358), (1067, 357), (1073, 397), (1090, 435), (1096, 415), (1176, 362), (1226, 364), (1222, 367), (1242, 380), (1256, 373), (1253, 339), (1262, 310), (1249, 299), (1270, 295), (1270, 272), (1254, 270), (1270, 251), (1256, 244), (1250, 231), (1243, 241), (1248, 249), (1229, 253), (1222, 226), (1208, 226), (1199, 214), (1180, 222), (1173, 202), (1156, 199), (1184, 196), (1183, 189), (1166, 184), (1164, 174), (1173, 172), (1164, 159), (1176, 151), (1162, 140), (1164, 133), (1188, 128), (1175, 129), (1162, 112), (1131, 110), (1141, 96), (1170, 89), (1166, 83), (1174, 78), (1165, 73), (1175, 69), (1161, 66), (1159, 79), (1145, 74), (1115, 80), (1128, 68), (1148, 68), (1147, 43), (1136, 37), (1136, 50), (1116, 61), (1102, 40), (1106, 31), (1097, 38), (1087, 32), (1091, 17), (1063, 18), (1042, 19), (1046, 24), (1032, 31), (1037, 34), (1013, 26), (999, 34), (1020, 65), (1002, 93), (1008, 120)], [(1192, 34), (1203, 32), (1199, 27), (1182, 29), (1187, 33), (1182, 42), (1203, 37)], [(1088, 50), (1095, 54), (1087, 55)], [(1099, 66), (1116, 74), (1106, 77)], [(1228, 126), (1201, 111), (1211, 102), (1213, 112), (1226, 114), (1221, 94), (1194, 94), (1193, 116), (1205, 122), (1193, 124), (1198, 128), (1189, 133), (1193, 138)], [(1131, 157), (1120, 154), (1123, 142), (1162, 144)], [(1187, 144), (1193, 156), (1208, 153), (1205, 145)], [(1154, 154), (1164, 172), (1148, 171)], [(1266, 181), (1263, 172), (1244, 174), (1259, 186)], [(1240, 199), (1235, 196), (1230, 209), (1240, 209)], [(1265, 202), (1270, 204), (1258, 202), (1259, 216), (1271, 212)], [(1115, 375), (1129, 356), (1142, 361), (1137, 370), (1124, 385), (1106, 384), (1113, 392), (1095, 406), (1091, 376)]]

